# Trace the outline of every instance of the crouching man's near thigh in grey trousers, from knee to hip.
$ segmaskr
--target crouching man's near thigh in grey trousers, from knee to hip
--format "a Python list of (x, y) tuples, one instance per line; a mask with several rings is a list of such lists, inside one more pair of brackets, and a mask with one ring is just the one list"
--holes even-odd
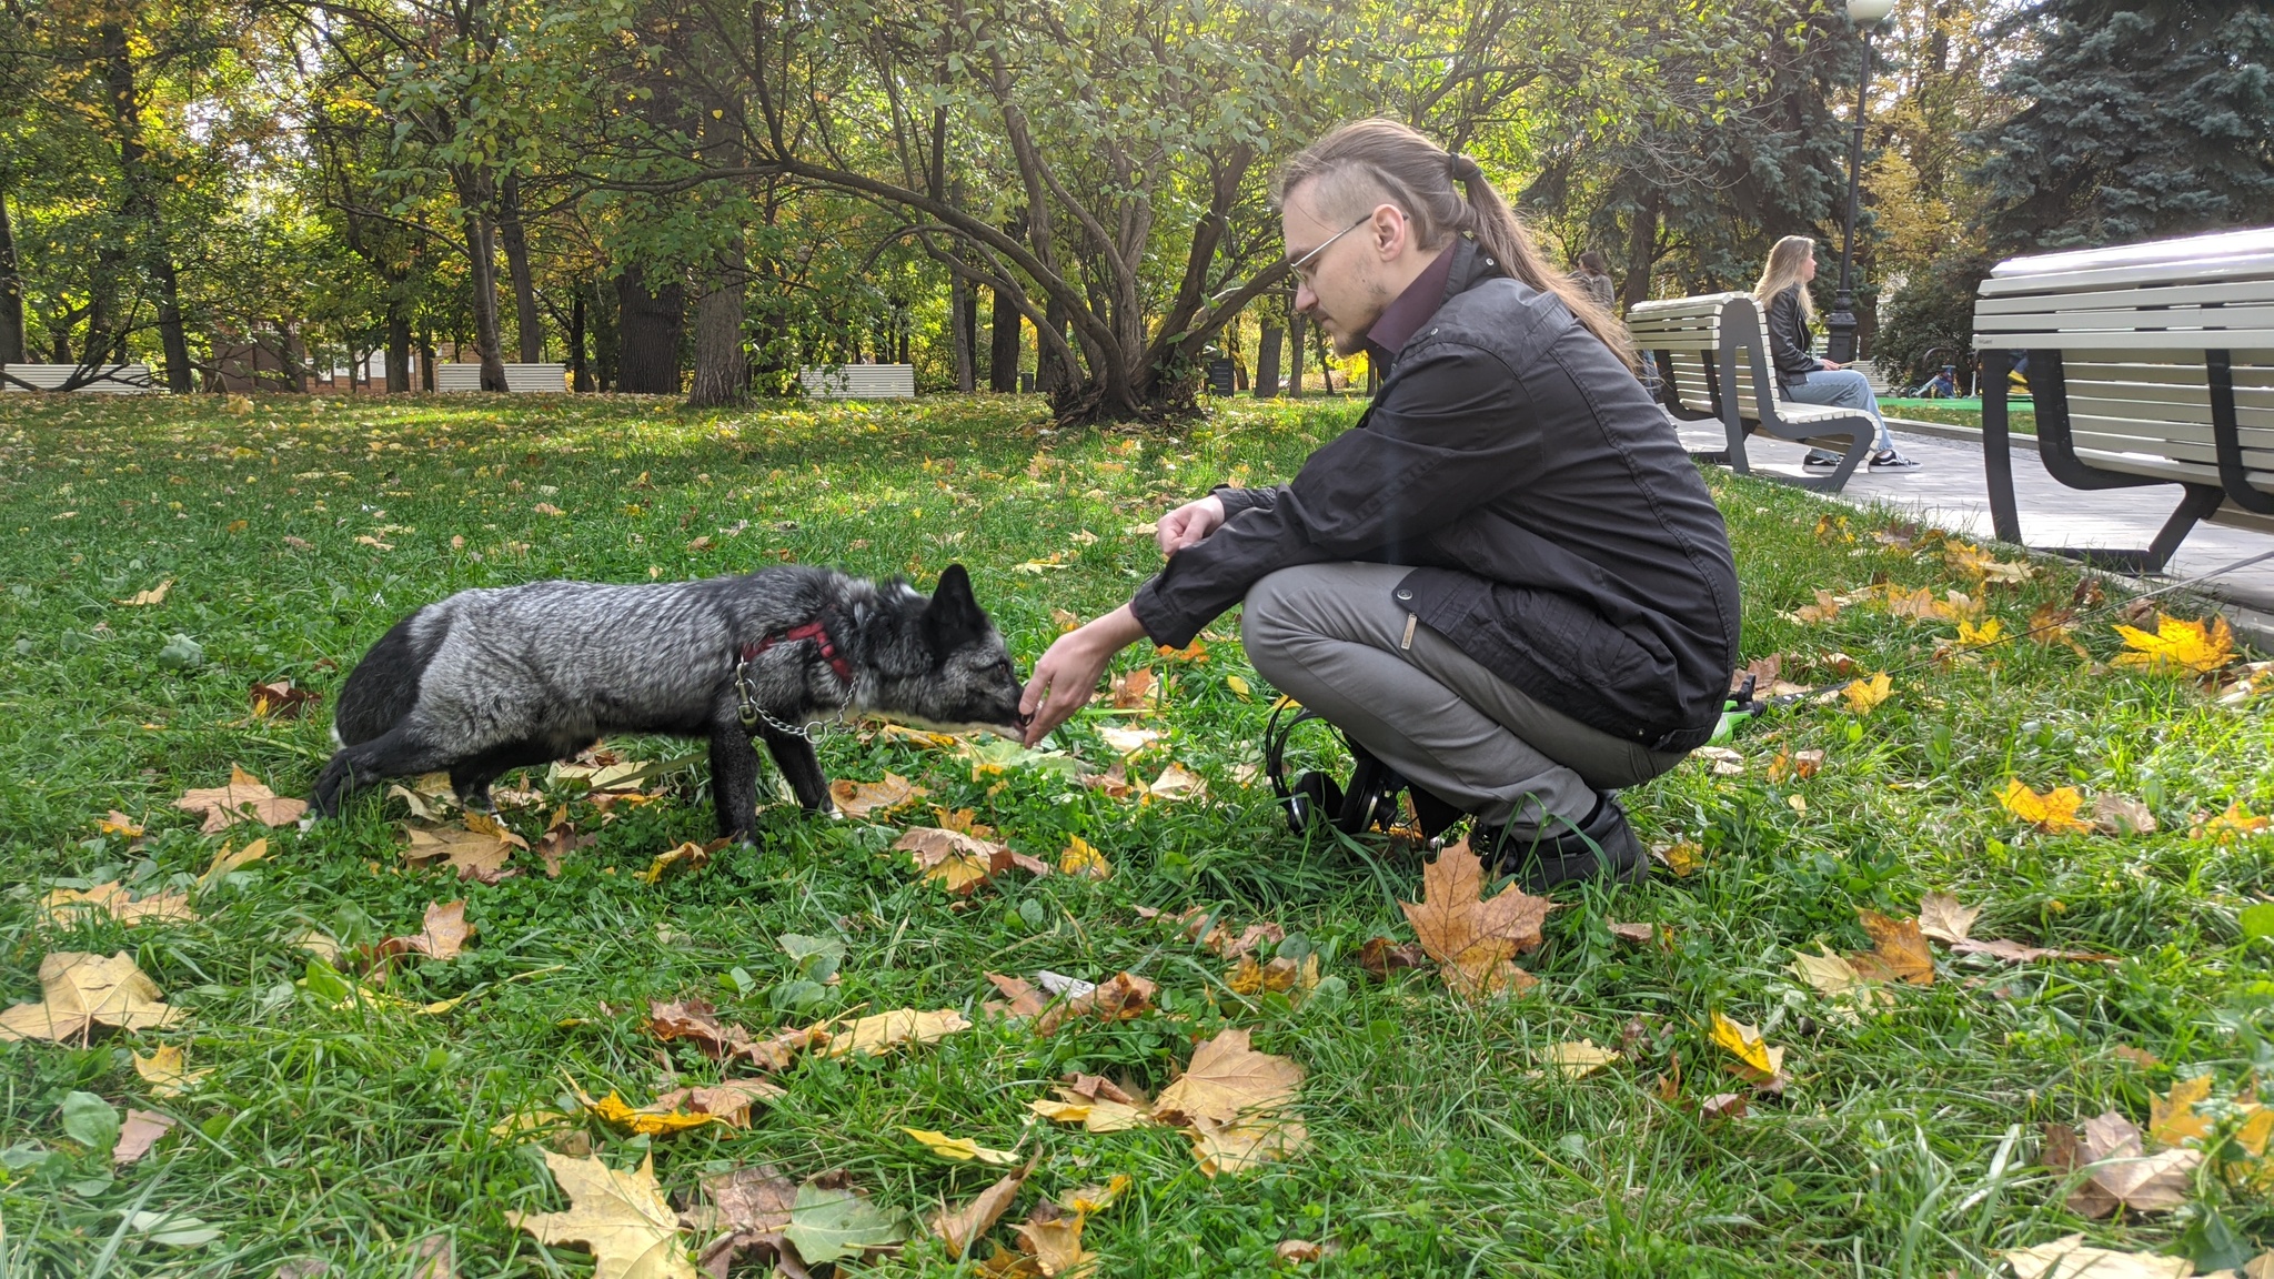
[(1303, 564), (1280, 569), (1248, 589), (1242, 614), (1248, 658), (1267, 676), (1305, 640), (1339, 640), (1401, 655), (1455, 696), (1478, 708), (1542, 756), (1569, 767), (1594, 787), (1649, 781), (1680, 753), (1646, 751), (1635, 742), (1580, 724), (1492, 674), (1442, 633), (1396, 601), (1412, 569), (1399, 564)]

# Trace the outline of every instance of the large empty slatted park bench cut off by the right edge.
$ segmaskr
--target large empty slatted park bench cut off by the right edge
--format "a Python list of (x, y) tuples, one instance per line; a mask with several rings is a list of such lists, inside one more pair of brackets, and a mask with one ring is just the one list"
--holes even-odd
[(2056, 480), (2183, 494), (2147, 548), (2058, 553), (2153, 574), (2204, 519), (2274, 533), (2274, 228), (1999, 262), (1974, 300), (1974, 348), (2001, 542), (2022, 542), (2006, 419), (2017, 355)]

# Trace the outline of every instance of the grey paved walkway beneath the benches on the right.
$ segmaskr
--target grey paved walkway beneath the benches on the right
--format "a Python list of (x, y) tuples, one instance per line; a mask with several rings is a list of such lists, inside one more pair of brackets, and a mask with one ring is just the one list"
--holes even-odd
[[(1990, 489), (1983, 478), (1983, 451), (1974, 439), (1949, 439), (1901, 428), (1890, 419), (1897, 446), (1919, 460), (1917, 471), (1862, 471), (1846, 482), (1840, 501), (1851, 505), (1890, 505), (1940, 528), (1992, 537)], [(1953, 430), (1956, 435), (1958, 430)], [(1692, 451), (1724, 448), (1719, 423), (1683, 423), (1683, 444)], [(1781, 439), (1749, 439), (1746, 457), (1756, 471), (1799, 476), (1808, 448)], [(2022, 535), (2031, 546), (2147, 546), (2178, 505), (2176, 485), (2140, 489), (2072, 489), (2044, 471), (2038, 451), (2017, 442), (2012, 451), (2015, 503), (2022, 510)], [(2274, 551), (2274, 537), (2219, 523), (2197, 523), (2163, 578), (2144, 587), (2208, 574), (2235, 560)], [(2204, 583), (2204, 594), (2219, 599), (2238, 630), (2256, 646), (2274, 649), (2274, 560)]]

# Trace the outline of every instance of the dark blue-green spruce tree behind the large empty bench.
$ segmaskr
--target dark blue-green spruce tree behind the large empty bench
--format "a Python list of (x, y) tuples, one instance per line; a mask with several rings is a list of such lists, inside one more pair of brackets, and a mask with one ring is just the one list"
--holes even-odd
[(2274, 223), (2265, 0), (2040, 0), (1976, 137), (1999, 255)]

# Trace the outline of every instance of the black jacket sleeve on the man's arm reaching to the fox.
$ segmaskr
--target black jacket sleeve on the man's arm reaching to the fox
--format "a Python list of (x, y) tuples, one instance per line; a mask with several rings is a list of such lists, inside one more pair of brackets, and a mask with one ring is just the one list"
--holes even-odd
[[(1326, 560), (1401, 562), (1399, 546), (1505, 494), (1530, 473), (1539, 423), (1521, 380), (1471, 346), (1410, 353), (1399, 391), (1323, 444), (1294, 482), (1248, 489), (1205, 542), (1169, 558), (1130, 610), (1155, 644), (1182, 649), (1276, 569)], [(1230, 503), (1226, 503), (1230, 510)]]

